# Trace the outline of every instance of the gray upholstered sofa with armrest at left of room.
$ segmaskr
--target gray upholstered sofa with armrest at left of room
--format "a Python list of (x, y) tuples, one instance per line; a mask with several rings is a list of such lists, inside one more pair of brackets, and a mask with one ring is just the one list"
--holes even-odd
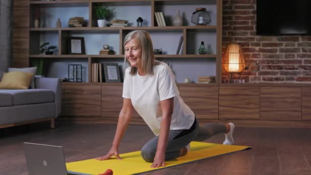
[(34, 79), (36, 89), (0, 90), (0, 128), (51, 120), (60, 115), (61, 82), (58, 78)]

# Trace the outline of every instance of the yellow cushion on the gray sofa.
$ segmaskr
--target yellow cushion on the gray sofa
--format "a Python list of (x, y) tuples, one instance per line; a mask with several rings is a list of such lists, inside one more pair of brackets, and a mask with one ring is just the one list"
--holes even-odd
[(0, 82), (0, 89), (27, 90), (33, 74), (28, 72), (4, 73)]

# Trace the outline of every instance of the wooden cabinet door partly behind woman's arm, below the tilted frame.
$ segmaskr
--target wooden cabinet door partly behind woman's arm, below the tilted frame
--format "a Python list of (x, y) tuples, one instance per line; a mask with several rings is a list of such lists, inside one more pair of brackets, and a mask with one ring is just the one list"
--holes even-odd
[[(123, 105), (122, 85), (102, 85), (101, 89), (101, 116), (119, 117)], [(133, 111), (132, 117), (139, 117), (137, 112)]]

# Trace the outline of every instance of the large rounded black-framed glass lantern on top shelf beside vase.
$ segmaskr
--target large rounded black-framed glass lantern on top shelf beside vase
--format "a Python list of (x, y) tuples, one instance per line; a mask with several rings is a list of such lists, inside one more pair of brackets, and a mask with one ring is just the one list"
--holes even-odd
[(211, 16), (206, 8), (196, 8), (192, 13), (191, 22), (195, 25), (207, 25), (211, 23)]

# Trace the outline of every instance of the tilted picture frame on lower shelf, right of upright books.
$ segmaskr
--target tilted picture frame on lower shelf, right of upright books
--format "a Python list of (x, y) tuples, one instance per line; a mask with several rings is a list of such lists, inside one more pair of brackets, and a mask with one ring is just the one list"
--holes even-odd
[(121, 82), (118, 63), (104, 63), (104, 74), (106, 82)]

